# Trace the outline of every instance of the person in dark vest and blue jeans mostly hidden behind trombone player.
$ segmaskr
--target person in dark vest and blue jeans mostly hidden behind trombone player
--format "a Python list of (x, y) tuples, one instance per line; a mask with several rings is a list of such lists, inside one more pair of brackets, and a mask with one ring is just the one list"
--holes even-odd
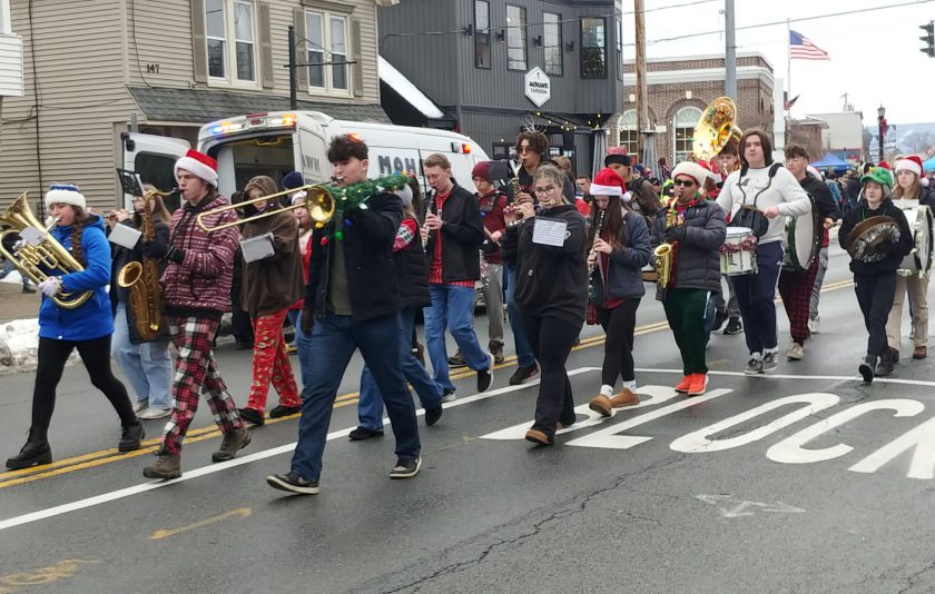
[[(420, 309), (432, 303), (429, 297), (429, 267), (425, 263), (425, 250), (422, 247), (419, 220), (413, 209), (413, 197), (417, 191), (420, 191), (419, 181), (410, 179), (409, 185), (396, 192), (403, 201), (403, 221), (393, 241), (393, 264), (403, 306), (398, 320), (400, 368), (419, 396), (425, 409), (425, 424), (431, 427), (442, 418), (442, 388), (432, 379), (412, 352), (415, 316)], [(383, 435), (383, 395), (366, 365), (361, 372), (357, 418), (361, 424), (347, 435), (351, 440)]]

